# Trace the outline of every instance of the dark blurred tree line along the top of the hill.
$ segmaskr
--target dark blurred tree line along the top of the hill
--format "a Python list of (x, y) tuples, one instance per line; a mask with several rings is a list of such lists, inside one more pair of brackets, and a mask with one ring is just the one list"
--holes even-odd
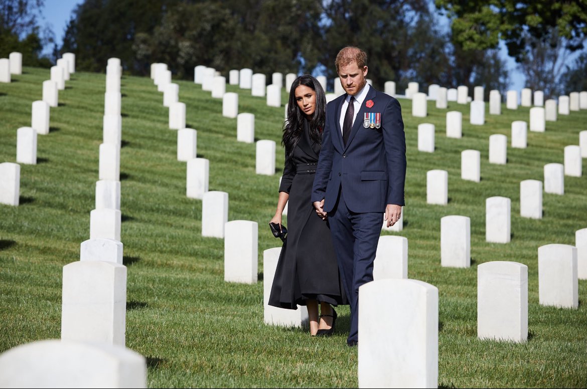
[[(510, 82), (502, 42), (527, 87), (545, 97), (587, 90), (587, 53), (568, 60), (584, 50), (587, 0), (85, 0), (62, 46), (38, 25), (43, 0), (0, 5), (0, 56), (19, 51), (32, 66), (73, 52), (76, 69), (90, 72), (119, 57), (132, 75), (149, 75), (151, 63), (163, 62), (183, 79), (205, 65), (223, 74), (249, 67), (332, 80), (336, 53), (355, 45), (367, 52), (378, 89), (393, 80), (401, 92), (416, 81), (423, 90), (481, 85), (488, 94)], [(41, 55), (48, 43), (49, 58)]]

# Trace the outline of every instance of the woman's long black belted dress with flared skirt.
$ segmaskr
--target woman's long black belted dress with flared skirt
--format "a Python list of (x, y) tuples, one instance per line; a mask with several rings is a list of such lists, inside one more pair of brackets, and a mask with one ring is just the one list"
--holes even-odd
[(281, 249), (269, 295), (269, 305), (298, 309), (314, 299), (346, 305), (328, 222), (316, 215), (311, 202), (320, 145), (303, 134), (294, 149), (294, 163), (286, 163), (280, 192), (288, 192), (288, 235)]

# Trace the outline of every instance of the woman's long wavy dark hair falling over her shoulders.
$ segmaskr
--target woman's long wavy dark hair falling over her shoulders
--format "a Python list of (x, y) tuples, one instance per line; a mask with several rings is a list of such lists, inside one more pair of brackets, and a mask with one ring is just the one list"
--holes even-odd
[(284, 122), (284, 137), (281, 144), (285, 147), (285, 163), (290, 163), (294, 155), (294, 148), (298, 144), (303, 133), (303, 120), (305, 114), (298, 107), (295, 98), (295, 90), (298, 86), (305, 85), (316, 92), (316, 110), (309, 123), (310, 138), (318, 144), (322, 144), (322, 130), (326, 119), (326, 96), (322, 85), (311, 75), (299, 76), (292, 83), (289, 90), (288, 119)]

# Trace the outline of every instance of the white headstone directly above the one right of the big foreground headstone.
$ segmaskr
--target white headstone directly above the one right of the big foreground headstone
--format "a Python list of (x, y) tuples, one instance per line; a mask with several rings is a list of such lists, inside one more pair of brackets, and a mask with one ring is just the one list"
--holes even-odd
[(508, 243), (511, 240), (511, 199), (494, 196), (485, 199), (485, 241)]

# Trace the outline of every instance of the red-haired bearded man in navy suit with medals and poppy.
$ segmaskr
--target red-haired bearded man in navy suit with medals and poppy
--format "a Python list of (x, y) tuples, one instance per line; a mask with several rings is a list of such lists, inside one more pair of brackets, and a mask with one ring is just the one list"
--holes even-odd
[[(383, 220), (400, 218), (406, 181), (402, 110), (367, 84), (367, 55), (346, 47), (335, 65), (346, 94), (326, 106), (312, 188), (316, 213), (328, 215), (340, 278), (350, 303), (349, 346), (358, 342), (359, 286), (373, 280)], [(383, 212), (384, 215), (383, 215)]]

